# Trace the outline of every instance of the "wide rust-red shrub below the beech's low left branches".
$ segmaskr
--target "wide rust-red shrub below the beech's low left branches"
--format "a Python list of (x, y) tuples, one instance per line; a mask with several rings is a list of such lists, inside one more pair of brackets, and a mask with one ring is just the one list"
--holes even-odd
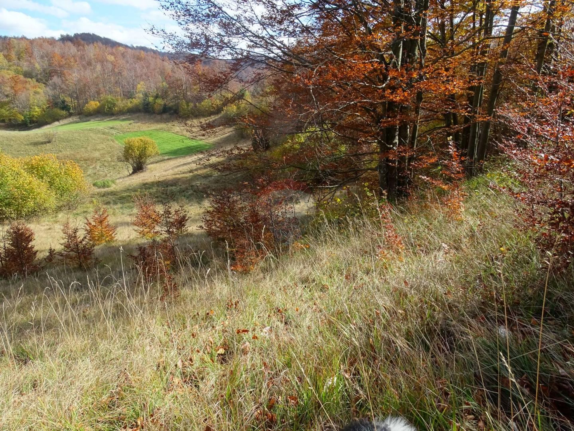
[(280, 253), (282, 245), (297, 236), (292, 202), (296, 187), (289, 181), (260, 183), (211, 197), (201, 228), (227, 243), (235, 260), (232, 270), (250, 271), (269, 253)]

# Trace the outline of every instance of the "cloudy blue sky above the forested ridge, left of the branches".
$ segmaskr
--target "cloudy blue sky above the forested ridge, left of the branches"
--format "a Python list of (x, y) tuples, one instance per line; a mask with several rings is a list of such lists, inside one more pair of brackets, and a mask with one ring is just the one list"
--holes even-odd
[(175, 30), (156, 0), (0, 0), (0, 36), (96, 33), (129, 45), (162, 48), (146, 29)]

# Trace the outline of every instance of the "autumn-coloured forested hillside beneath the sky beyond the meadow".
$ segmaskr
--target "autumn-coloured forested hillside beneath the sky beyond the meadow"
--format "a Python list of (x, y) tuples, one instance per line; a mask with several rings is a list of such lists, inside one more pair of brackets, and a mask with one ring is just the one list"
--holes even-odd
[[(193, 67), (199, 75), (207, 69)], [(82, 113), (209, 114), (206, 97), (197, 80), (152, 49), (87, 33), (0, 39), (0, 122), (48, 124)]]

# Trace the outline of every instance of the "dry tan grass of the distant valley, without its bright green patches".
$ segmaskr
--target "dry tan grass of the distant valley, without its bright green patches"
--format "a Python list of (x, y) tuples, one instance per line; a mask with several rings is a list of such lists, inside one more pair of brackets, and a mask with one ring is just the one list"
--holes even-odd
[[(109, 118), (98, 117), (96, 120), (107, 121)], [(201, 126), (210, 119), (190, 120), (187, 125), (182, 125), (173, 117), (139, 114), (118, 118), (121, 122), (111, 126), (58, 131), (53, 142), (45, 141), (42, 132), (50, 130), (51, 126), (31, 132), (0, 130), (0, 140), (3, 141), (0, 150), (11, 156), (51, 152), (60, 158), (79, 163), (90, 181), (107, 178), (115, 180), (115, 184), (110, 188), (92, 189), (86, 202), (76, 209), (39, 217), (29, 223), (36, 233), (36, 248), (41, 257), (45, 256), (50, 247), (59, 248), (61, 226), (64, 222), (70, 220), (72, 223), (83, 224), (94, 208), (94, 201), (102, 203), (109, 210), (110, 221), (118, 227), (117, 243), (128, 247), (134, 245), (137, 240), (130, 221), (134, 215), (133, 197), (138, 193), (150, 193), (160, 198), (170, 197), (176, 203), (185, 206), (191, 216), (191, 229), (197, 234), (196, 228), (200, 225), (202, 213), (201, 206), (204, 205), (203, 187), (214, 182), (210, 172), (196, 164), (198, 157), (202, 155), (159, 157), (150, 163), (146, 171), (129, 175), (124, 164), (117, 161), (120, 147), (114, 140), (115, 134), (157, 129), (203, 140), (211, 144), (212, 148), (245, 143), (244, 138), (230, 129), (220, 129), (218, 133), (206, 134)], [(70, 120), (62, 124), (70, 124)], [(110, 261), (106, 258), (109, 253), (100, 254), (104, 257), (104, 261)]]

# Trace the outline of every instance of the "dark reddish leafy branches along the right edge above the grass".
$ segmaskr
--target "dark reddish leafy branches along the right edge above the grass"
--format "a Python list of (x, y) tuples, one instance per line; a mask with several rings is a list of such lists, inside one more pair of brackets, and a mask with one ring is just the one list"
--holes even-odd
[(537, 93), (517, 88), (521, 102), (507, 103), (507, 133), (501, 142), (513, 161), (514, 181), (503, 188), (522, 205), (519, 215), (538, 236), (552, 267), (572, 262), (574, 248), (574, 56), (570, 64), (542, 77)]

